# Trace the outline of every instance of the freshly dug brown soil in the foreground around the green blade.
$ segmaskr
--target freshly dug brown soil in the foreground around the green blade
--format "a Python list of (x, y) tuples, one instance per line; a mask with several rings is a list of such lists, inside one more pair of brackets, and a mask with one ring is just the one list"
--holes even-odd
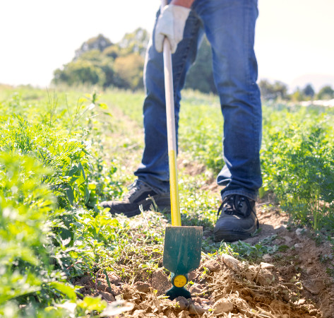
[(83, 286), (79, 290), (83, 295), (100, 295), (126, 310), (117, 317), (334, 317), (333, 280), (326, 273), (330, 245), (317, 244), (309, 230), (288, 230), (285, 214), (261, 206), (262, 230), (244, 242), (255, 245), (275, 235), (271, 244), (287, 249), (264, 255), (259, 264), (228, 254), (204, 255), (201, 266), (189, 275), (191, 299), (165, 297), (171, 285), (161, 261), (153, 273), (143, 272), (132, 281), (107, 273), (110, 287), (105, 274), (83, 276), (73, 283)]

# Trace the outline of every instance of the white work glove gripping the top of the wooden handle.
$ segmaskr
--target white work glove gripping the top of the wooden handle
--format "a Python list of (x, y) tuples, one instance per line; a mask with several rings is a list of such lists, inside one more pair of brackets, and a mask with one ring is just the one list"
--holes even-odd
[(168, 38), (172, 53), (183, 39), (184, 26), (191, 9), (169, 4), (163, 8), (155, 27), (155, 49), (162, 52), (165, 37)]

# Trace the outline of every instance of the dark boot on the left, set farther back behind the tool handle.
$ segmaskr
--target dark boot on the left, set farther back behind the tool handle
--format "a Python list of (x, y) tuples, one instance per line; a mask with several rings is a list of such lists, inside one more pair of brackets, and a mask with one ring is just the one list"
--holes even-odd
[(150, 206), (155, 206), (155, 204), (160, 211), (164, 209), (170, 211), (169, 192), (157, 194), (148, 184), (136, 179), (129, 187), (129, 192), (122, 201), (103, 201), (100, 206), (109, 208), (112, 214), (123, 213), (125, 216), (130, 217), (141, 214), (140, 206), (143, 206), (143, 211), (148, 211)]

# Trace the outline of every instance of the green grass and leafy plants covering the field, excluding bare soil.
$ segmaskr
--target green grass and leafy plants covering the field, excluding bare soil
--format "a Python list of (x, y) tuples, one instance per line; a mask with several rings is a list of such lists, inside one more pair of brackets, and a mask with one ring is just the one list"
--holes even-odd
[[(133, 181), (143, 148), (142, 102), (143, 93), (119, 90), (99, 99), (0, 87), (0, 315), (64, 317), (71, 308), (73, 317), (93, 317), (107, 303), (76, 293), (76, 277), (114, 271), (131, 283), (161, 266), (169, 216), (111, 217), (98, 205), (119, 198)], [(273, 192), (299, 223), (333, 231), (333, 112), (275, 107), (263, 112), (263, 192)], [(220, 194), (205, 184), (222, 165), (221, 137), (217, 98), (186, 91), (179, 131), (182, 220), (208, 233)], [(192, 173), (189, 165), (204, 165), (206, 172)], [(209, 237), (203, 252), (258, 261), (285, 248), (272, 246), (273, 239), (252, 246)]]

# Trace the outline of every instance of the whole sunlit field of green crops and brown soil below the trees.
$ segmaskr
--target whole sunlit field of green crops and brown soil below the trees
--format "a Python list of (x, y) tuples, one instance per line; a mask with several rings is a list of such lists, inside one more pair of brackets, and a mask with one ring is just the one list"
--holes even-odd
[(193, 299), (171, 301), (169, 216), (99, 206), (133, 182), (142, 102), (120, 90), (0, 86), (0, 317), (333, 317), (334, 110), (263, 105), (261, 229), (215, 243), (220, 106), (184, 93), (181, 218), (203, 226), (203, 244)]

